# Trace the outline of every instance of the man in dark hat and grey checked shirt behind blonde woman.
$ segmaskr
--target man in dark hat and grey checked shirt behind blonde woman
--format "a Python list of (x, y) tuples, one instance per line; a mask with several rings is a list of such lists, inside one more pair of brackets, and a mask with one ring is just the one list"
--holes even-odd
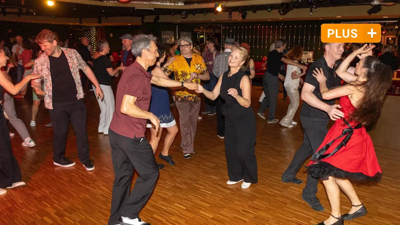
[[(235, 40), (233, 38), (226, 38), (224, 42), (225, 50), (214, 59), (214, 68), (212, 68), (212, 73), (214, 76), (219, 78), (224, 72), (228, 71), (228, 58), (230, 52), (235, 45)], [(224, 100), (221, 96), (216, 99), (216, 111), (217, 111), (217, 135), (220, 138), (225, 137), (225, 119), (222, 116), (221, 108), (224, 105)]]

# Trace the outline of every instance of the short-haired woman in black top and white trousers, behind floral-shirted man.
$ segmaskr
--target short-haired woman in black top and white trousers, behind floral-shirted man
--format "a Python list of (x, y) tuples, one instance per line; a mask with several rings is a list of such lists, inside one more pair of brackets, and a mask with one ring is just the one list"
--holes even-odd
[[(100, 106), (100, 122), (98, 133), (108, 135), (108, 127), (110, 127), (112, 115), (114, 114), (115, 110), (114, 93), (112, 92), (111, 88), (112, 77), (118, 76), (118, 72), (120, 70), (124, 70), (124, 67), (118, 66), (114, 70), (112, 69), (111, 60), (108, 56), (106, 56), (106, 54), (110, 52), (108, 41), (98, 40), (97, 50), (98, 54), (96, 54), (92, 60), (93, 72), (104, 92), (103, 100), (100, 98), (97, 99), (97, 102)], [(92, 86), (94, 94), (96, 95), (96, 87), (94, 85)]]

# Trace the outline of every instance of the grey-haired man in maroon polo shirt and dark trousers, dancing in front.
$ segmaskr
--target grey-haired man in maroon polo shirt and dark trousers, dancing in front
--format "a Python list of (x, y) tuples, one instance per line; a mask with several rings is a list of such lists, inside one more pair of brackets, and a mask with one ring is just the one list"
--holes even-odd
[[(164, 79), (147, 72), (158, 57), (156, 40), (145, 34), (133, 37), (132, 54), (136, 60), (125, 68), (118, 83), (116, 110), (108, 132), (115, 174), (108, 225), (149, 224), (139, 218), (139, 212), (150, 198), (158, 178), (156, 159), (144, 135), (146, 120), (150, 120), (157, 131), (160, 126), (160, 120), (148, 112), (151, 84), (182, 86), (190, 90), (198, 87), (196, 83)], [(130, 193), (134, 170), (139, 177)]]

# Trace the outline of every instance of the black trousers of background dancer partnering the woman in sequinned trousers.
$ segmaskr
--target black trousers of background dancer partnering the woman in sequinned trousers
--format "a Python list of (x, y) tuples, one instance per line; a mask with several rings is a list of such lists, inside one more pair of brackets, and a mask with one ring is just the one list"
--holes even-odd
[(275, 119), (276, 104), (278, 104), (279, 83), (278, 76), (265, 72), (262, 77), (265, 98), (260, 104), (258, 113), (264, 113), (268, 108), (268, 120)]

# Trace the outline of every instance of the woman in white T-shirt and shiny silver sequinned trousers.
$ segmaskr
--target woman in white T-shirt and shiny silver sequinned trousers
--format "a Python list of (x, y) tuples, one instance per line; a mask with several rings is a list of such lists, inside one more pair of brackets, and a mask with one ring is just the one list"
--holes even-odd
[[(286, 58), (293, 60), (295, 62), (301, 60), (303, 55), (303, 48), (300, 46), (295, 46), (288, 53), (286, 53)], [(297, 108), (300, 102), (300, 94), (298, 91), (299, 84), (303, 84), (301, 76), (306, 74), (306, 70), (303, 72), (298, 66), (288, 65), (286, 69), (286, 78), (284, 82), (284, 88), (288, 92), (290, 98), (290, 104), (286, 116), (279, 122), (280, 125), (284, 127), (293, 127), (297, 124), (293, 121), (293, 117), (296, 114)]]

